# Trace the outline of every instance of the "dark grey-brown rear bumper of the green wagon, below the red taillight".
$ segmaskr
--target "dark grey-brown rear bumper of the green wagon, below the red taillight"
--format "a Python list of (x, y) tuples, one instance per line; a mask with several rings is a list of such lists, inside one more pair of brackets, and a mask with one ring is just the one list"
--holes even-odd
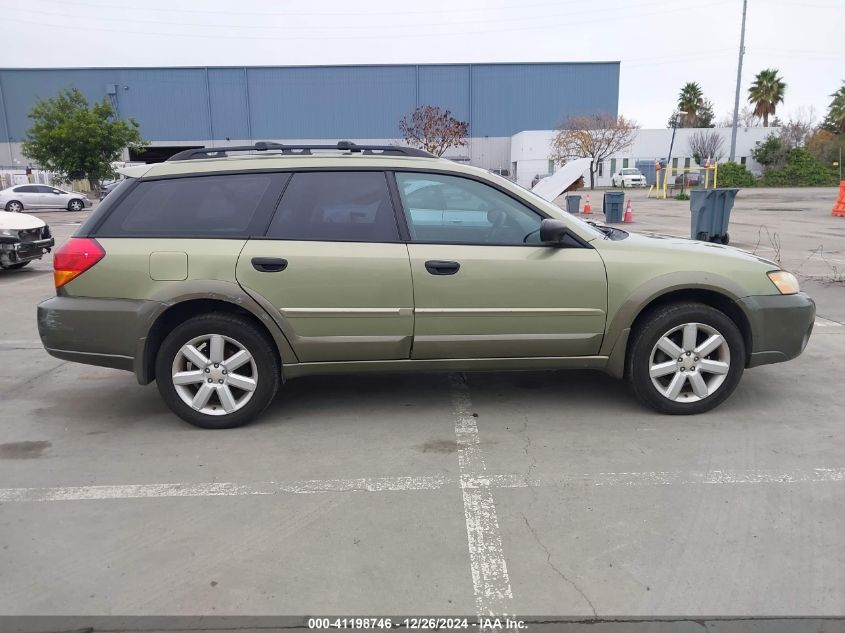
[(136, 371), (157, 301), (53, 297), (38, 305), (38, 335), (51, 356)]

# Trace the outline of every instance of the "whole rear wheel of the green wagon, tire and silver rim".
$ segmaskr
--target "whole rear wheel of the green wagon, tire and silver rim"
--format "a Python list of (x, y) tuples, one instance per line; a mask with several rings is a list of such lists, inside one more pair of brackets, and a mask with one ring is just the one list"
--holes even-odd
[(279, 389), (272, 339), (226, 313), (189, 319), (164, 339), (156, 358), (159, 393), (183, 420), (205, 429), (243, 426)]

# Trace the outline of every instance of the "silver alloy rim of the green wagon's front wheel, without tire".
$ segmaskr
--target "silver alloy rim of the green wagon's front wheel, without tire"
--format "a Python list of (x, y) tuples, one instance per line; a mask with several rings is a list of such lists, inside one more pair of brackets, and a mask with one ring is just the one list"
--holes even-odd
[(685, 323), (658, 339), (651, 350), (649, 376), (664, 398), (698, 402), (724, 384), (730, 367), (730, 347), (718, 330)]

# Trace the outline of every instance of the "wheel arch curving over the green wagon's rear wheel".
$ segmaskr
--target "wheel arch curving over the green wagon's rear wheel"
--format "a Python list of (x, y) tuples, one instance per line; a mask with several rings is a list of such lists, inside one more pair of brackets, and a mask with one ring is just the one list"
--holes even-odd
[(138, 382), (146, 385), (155, 379), (158, 350), (167, 334), (173, 328), (190, 318), (209, 312), (236, 314), (249, 320), (262, 332), (265, 332), (274, 342), (274, 349), (276, 350), (280, 367), (283, 367), (285, 363), (296, 362), (297, 359), (287, 339), (281, 330), (275, 326), (272, 319), (266, 314), (256, 314), (256, 312), (261, 310), (260, 307), (252, 310), (250, 309), (252, 306), (247, 307), (246, 304), (247, 302), (245, 301), (235, 303), (219, 297), (190, 297), (167, 304), (167, 307), (153, 320), (146, 337), (138, 343), (139, 349), (135, 357), (135, 374)]

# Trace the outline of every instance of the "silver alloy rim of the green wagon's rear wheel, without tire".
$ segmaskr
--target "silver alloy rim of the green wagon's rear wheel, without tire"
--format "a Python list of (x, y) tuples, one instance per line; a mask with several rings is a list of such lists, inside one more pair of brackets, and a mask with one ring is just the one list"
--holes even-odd
[(176, 393), (206, 415), (242, 409), (258, 386), (258, 367), (249, 350), (228, 336), (206, 334), (185, 343), (173, 359)]

